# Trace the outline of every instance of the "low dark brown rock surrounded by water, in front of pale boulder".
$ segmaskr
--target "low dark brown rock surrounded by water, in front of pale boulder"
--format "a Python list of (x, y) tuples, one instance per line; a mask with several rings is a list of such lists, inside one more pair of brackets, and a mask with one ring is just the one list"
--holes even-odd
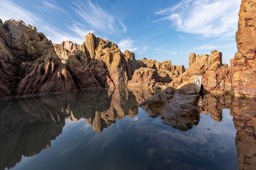
[(191, 129), (199, 122), (199, 95), (189, 95), (184, 90), (168, 87), (140, 102), (148, 116), (160, 116), (166, 124), (181, 131)]

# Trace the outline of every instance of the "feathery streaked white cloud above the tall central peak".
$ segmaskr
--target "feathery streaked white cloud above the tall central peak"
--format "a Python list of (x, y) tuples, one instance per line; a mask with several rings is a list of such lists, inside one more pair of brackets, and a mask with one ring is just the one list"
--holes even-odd
[(126, 32), (127, 28), (119, 18), (115, 18), (109, 14), (106, 9), (101, 8), (95, 1), (77, 0), (72, 2), (76, 9), (74, 11), (95, 29), (111, 32)]

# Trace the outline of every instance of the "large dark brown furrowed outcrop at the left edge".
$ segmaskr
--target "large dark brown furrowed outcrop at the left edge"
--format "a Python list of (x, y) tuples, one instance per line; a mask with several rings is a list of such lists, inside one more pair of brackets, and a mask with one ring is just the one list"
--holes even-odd
[(0, 20), (0, 97), (76, 89), (52, 42), (21, 20)]

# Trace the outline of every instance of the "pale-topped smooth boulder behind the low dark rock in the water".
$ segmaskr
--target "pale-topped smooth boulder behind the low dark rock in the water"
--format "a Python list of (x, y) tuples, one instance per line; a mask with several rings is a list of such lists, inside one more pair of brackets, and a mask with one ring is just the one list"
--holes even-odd
[(194, 75), (188, 81), (178, 85), (177, 89), (182, 89), (188, 94), (199, 94), (202, 85), (202, 76)]

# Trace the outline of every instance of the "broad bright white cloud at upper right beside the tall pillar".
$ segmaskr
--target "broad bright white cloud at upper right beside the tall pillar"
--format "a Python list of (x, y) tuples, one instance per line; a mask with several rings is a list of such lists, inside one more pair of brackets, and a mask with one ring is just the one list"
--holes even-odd
[(177, 31), (203, 37), (229, 37), (237, 30), (239, 9), (240, 0), (182, 0), (155, 14), (163, 15), (157, 21), (173, 22)]

